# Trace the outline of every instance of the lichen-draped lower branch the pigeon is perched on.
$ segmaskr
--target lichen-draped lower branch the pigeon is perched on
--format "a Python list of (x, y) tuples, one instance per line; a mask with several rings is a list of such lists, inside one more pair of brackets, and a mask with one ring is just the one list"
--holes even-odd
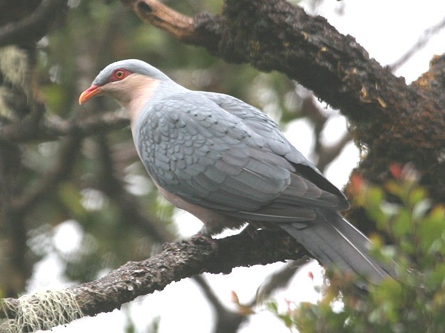
[[(232, 271), (232, 268), (238, 266), (264, 265), (287, 259), (298, 259), (307, 255), (307, 252), (284, 232), (259, 231), (258, 233), (261, 239), (267, 239), (267, 242), (262, 242), (261, 246), (247, 233), (221, 239), (197, 236), (180, 243), (166, 243), (161, 254), (145, 261), (129, 261), (100, 279), (65, 289), (65, 294), (69, 293), (73, 297), (77, 315), (66, 313), (63, 318), (54, 320), (51, 313), (54, 316), (56, 313), (58, 315), (60, 312), (70, 311), (73, 304), (58, 304), (59, 307), (63, 307), (63, 310), (54, 311), (40, 304), (42, 295), (45, 300), (48, 300), (50, 298), (48, 293), (51, 295), (51, 292), (27, 295), (26, 302), (31, 303), (26, 304), (27, 309), (29, 311), (38, 309), (42, 313), (35, 314), (40, 318), (39, 327), (21, 327), (21, 329), (24, 332), (29, 332), (31, 328), (33, 330), (48, 329), (49, 325), (66, 324), (79, 316), (95, 316), (102, 312), (120, 309), (122, 304), (140, 295), (161, 291), (170, 282), (200, 273), (227, 274)], [(36, 307), (33, 308), (33, 304)], [(37, 304), (40, 304), (40, 307), (37, 307)], [(24, 304), (21, 299), (4, 299), (0, 318), (11, 320), (16, 316), (24, 316), (23, 309)], [(46, 318), (46, 321), (42, 318)]]

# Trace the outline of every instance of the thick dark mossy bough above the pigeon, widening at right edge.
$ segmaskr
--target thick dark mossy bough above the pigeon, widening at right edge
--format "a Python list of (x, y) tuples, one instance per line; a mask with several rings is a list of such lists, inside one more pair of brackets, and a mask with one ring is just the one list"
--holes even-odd
[(445, 202), (440, 59), (419, 82), (407, 86), (353, 37), (285, 0), (225, 0), (222, 15), (199, 13), (182, 30), (177, 15), (157, 9), (163, 6), (158, 0), (122, 1), (145, 22), (182, 42), (206, 47), (228, 62), (250, 63), (295, 79), (348, 117), (357, 142), (369, 151), (356, 172), (381, 183), (391, 177), (388, 165), (411, 161), (425, 172), (423, 186), (432, 197)]

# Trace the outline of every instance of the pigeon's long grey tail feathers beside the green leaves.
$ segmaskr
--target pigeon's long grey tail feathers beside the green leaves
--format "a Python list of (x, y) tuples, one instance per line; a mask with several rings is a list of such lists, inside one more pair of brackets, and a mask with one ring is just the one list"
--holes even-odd
[(337, 211), (323, 210), (317, 214), (318, 219), (314, 222), (283, 223), (280, 227), (325, 267), (337, 267), (364, 276), (373, 284), (396, 276), (393, 268), (371, 257), (369, 239)]

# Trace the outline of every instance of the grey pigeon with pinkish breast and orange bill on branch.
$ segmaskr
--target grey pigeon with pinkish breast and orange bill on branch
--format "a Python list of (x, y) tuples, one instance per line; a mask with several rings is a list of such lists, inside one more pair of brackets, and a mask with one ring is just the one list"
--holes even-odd
[(217, 92), (189, 90), (143, 60), (104, 67), (79, 104), (108, 95), (130, 117), (136, 150), (159, 192), (199, 218), (200, 234), (283, 229), (327, 268), (380, 284), (394, 276), (341, 211), (341, 191), (265, 113)]

